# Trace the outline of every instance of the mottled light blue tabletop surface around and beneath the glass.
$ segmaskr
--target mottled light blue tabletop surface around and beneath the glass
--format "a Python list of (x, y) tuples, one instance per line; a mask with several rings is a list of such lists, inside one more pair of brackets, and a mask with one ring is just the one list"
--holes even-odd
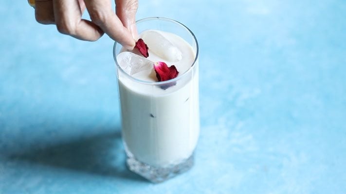
[(125, 167), (104, 36), (0, 6), (0, 194), (345, 194), (345, 0), (140, 0), (200, 43), (196, 164), (161, 184)]

